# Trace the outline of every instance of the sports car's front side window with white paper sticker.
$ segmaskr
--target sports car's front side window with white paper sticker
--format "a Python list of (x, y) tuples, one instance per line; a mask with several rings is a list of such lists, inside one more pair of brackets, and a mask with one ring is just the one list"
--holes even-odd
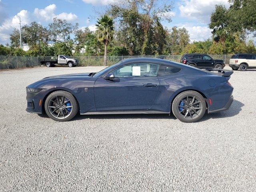
[(151, 63), (133, 63), (113, 70), (115, 77), (156, 77), (159, 65)]

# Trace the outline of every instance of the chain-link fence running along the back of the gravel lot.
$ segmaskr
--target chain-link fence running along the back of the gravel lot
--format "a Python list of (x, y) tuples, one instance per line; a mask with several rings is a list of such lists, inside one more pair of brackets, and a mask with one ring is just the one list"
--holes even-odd
[[(224, 60), (226, 64), (229, 64), (229, 60), (232, 55), (210, 55), (213, 59)], [(157, 56), (107, 56), (108, 66), (111, 66), (121, 60), (128, 58), (160, 58), (174, 62), (180, 62), (182, 55), (157, 55)], [(104, 56), (71, 56), (79, 62), (79, 66), (103, 66)], [(56, 56), (0, 56), (0, 70), (26, 68), (40, 66), (40, 60), (56, 60)]]

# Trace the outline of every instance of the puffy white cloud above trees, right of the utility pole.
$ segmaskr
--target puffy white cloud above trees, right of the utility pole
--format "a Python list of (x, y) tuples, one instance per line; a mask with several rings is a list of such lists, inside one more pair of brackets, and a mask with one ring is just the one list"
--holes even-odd
[(49, 21), (49, 20), (52, 20), (52, 18), (55, 16), (54, 14), (55, 10), (56, 10), (56, 5), (50, 4), (46, 6), (44, 9), (35, 8), (34, 14), (40, 20)]

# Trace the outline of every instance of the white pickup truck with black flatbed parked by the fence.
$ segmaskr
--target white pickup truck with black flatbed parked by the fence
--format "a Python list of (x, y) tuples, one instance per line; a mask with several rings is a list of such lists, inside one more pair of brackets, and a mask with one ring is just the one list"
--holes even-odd
[(58, 55), (56, 60), (41, 60), (40, 63), (46, 67), (53, 67), (55, 65), (67, 65), (69, 67), (74, 67), (78, 65), (78, 60), (72, 59), (66, 55)]

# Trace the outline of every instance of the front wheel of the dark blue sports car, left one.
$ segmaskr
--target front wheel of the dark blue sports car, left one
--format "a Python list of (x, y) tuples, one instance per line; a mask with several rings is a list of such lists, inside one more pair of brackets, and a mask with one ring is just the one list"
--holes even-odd
[(70, 92), (55, 91), (46, 98), (44, 109), (51, 119), (63, 122), (74, 118), (79, 106), (76, 98)]

